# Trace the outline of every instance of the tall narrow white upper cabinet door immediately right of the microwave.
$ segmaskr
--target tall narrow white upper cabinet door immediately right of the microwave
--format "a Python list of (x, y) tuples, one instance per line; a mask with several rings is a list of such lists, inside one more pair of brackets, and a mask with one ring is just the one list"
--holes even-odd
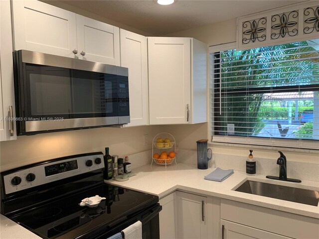
[(147, 125), (149, 119), (147, 39), (120, 30), (121, 66), (129, 68), (130, 117), (128, 126)]

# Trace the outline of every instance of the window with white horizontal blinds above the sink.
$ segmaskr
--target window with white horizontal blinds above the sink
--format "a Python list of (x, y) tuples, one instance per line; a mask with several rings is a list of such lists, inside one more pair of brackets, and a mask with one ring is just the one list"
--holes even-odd
[(212, 141), (319, 148), (319, 39), (211, 53)]

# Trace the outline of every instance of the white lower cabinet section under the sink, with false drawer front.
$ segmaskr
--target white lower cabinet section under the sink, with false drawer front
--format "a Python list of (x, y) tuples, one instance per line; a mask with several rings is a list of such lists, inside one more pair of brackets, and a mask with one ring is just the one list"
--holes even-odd
[(222, 239), (318, 239), (319, 219), (221, 199)]

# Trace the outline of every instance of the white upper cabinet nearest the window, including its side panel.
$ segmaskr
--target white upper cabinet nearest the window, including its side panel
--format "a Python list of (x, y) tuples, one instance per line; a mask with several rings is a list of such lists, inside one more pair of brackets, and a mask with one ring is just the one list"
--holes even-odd
[(206, 122), (207, 45), (149, 37), (150, 124)]

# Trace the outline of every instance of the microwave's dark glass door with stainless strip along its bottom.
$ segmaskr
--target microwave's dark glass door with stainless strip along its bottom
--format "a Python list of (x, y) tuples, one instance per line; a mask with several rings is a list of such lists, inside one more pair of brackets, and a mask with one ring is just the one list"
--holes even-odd
[(31, 120), (25, 122), (26, 131), (119, 123), (116, 75), (47, 66), (27, 68), (29, 94), (25, 100)]

